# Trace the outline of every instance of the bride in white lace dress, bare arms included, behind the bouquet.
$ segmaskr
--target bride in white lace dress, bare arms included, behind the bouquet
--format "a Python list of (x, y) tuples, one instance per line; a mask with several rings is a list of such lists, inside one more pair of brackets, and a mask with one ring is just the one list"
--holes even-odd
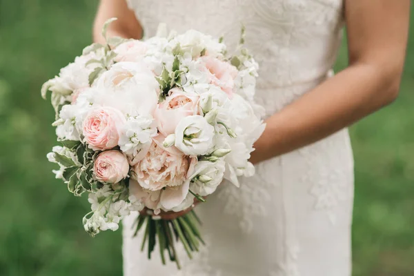
[[(398, 94), (409, 0), (101, 0), (95, 41), (150, 37), (164, 22), (234, 46), (242, 23), (260, 66), (266, 130), (254, 177), (197, 206), (208, 246), (177, 271), (141, 253), (124, 221), (124, 275), (349, 276), (353, 155), (346, 127)], [(342, 30), (349, 66), (333, 76)], [(366, 184), (368, 185), (368, 184)], [(185, 254), (181, 254), (181, 262)]]

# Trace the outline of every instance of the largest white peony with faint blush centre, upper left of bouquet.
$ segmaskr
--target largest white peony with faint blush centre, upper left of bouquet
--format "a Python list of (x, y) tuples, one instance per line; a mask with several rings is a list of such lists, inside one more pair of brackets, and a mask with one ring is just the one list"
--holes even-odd
[(143, 63), (119, 62), (97, 80), (95, 103), (124, 114), (152, 115), (158, 103), (159, 84)]

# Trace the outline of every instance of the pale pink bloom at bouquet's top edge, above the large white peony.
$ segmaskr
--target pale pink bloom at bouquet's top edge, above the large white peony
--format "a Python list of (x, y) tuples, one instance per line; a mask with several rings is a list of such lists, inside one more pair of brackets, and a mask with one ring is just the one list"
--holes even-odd
[(139, 40), (126, 41), (115, 48), (115, 52), (117, 53), (115, 61), (138, 62), (144, 58), (146, 51), (146, 43)]

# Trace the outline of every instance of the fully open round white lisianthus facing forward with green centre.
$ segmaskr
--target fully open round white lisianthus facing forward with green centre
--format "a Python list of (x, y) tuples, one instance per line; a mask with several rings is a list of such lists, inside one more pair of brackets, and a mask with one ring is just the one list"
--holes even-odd
[(202, 116), (181, 119), (175, 129), (175, 146), (186, 155), (206, 155), (213, 150), (215, 130)]

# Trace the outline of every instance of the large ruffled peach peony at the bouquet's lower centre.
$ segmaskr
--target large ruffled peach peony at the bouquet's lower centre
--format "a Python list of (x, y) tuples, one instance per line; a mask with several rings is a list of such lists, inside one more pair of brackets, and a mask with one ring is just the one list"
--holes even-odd
[(160, 190), (166, 186), (181, 186), (190, 168), (188, 157), (177, 148), (164, 148), (164, 136), (153, 138), (148, 152), (133, 168), (135, 179), (142, 188)]

